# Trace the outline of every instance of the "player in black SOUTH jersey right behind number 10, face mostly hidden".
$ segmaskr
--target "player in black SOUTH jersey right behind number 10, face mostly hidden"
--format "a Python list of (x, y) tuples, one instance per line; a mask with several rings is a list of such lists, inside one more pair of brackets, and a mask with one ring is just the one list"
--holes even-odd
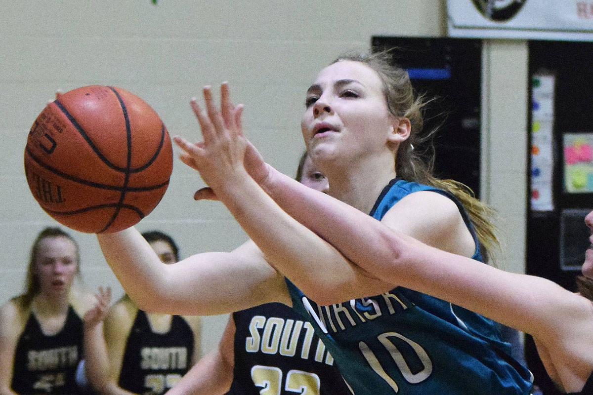
[[(327, 178), (307, 152), (299, 160), (296, 179), (314, 190), (327, 189)], [(313, 326), (282, 303), (232, 313), (218, 348), (200, 359), (167, 395), (255, 395), (263, 390), (350, 394)]]

